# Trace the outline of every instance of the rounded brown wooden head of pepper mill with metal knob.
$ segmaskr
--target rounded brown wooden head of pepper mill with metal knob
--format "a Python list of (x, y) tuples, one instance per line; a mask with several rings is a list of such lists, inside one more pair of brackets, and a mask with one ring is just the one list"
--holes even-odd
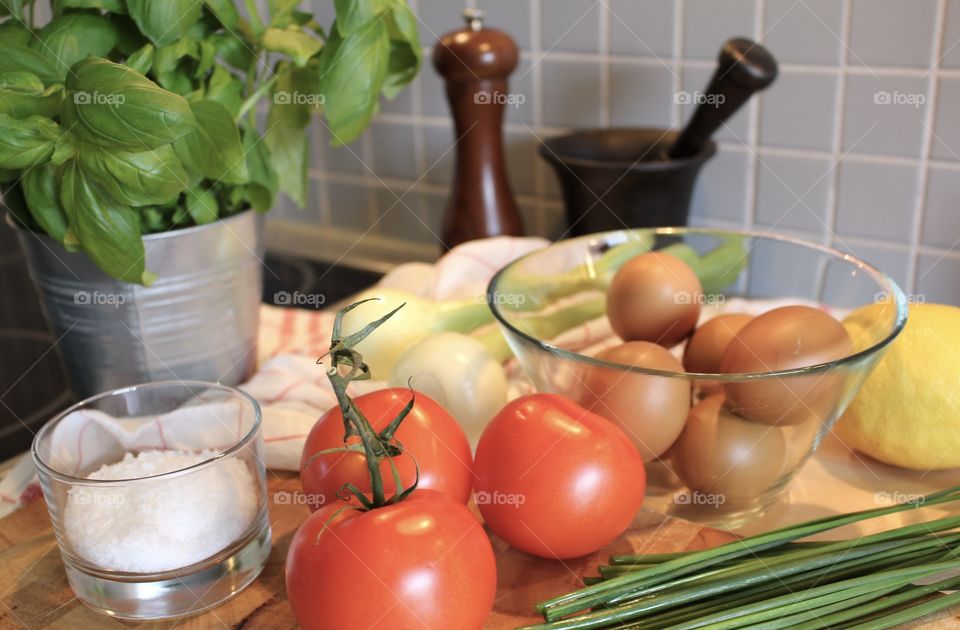
[(463, 12), (466, 28), (440, 37), (433, 49), (433, 67), (447, 81), (506, 78), (517, 67), (519, 51), (513, 38), (483, 26), (483, 11)]

